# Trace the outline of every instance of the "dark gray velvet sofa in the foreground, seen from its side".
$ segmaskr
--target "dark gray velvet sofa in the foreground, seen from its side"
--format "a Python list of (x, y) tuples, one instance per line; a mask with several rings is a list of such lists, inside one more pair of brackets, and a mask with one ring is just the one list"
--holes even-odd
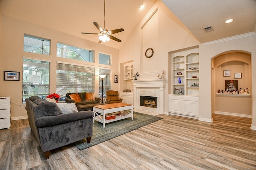
[(46, 159), (50, 150), (92, 137), (93, 111), (62, 114), (60, 108), (38, 96), (26, 99), (28, 121)]

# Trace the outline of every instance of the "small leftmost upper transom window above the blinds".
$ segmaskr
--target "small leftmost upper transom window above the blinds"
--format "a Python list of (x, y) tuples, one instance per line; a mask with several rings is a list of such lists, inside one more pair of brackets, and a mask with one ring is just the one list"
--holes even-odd
[(24, 51), (50, 55), (50, 40), (31, 35), (24, 35)]

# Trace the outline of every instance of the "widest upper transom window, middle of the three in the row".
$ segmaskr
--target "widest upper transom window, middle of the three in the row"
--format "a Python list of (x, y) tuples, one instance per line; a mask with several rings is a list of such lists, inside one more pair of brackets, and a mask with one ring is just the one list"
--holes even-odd
[(57, 57), (94, 62), (93, 51), (57, 43)]

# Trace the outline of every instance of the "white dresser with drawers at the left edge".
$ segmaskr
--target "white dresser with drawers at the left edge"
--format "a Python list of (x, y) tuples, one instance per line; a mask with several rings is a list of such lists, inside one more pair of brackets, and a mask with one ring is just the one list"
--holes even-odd
[(0, 97), (0, 129), (11, 127), (10, 105), (10, 97)]

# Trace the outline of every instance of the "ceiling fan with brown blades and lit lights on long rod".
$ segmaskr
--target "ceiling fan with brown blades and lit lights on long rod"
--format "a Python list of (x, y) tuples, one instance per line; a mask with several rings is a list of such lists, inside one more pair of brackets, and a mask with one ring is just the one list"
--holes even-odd
[(120, 39), (112, 36), (112, 34), (122, 32), (122, 31), (124, 31), (124, 29), (119, 28), (119, 29), (114, 29), (114, 30), (111, 30), (111, 31), (108, 31), (108, 29), (105, 29), (105, 3), (106, 3), (106, 0), (104, 0), (104, 29), (102, 29), (102, 27), (100, 27), (100, 25), (97, 22), (93, 22), (94, 25), (100, 31), (100, 33), (82, 33), (82, 34), (96, 34), (96, 35), (100, 35), (99, 43), (109, 41), (110, 39), (113, 39), (115, 41), (121, 42)]

